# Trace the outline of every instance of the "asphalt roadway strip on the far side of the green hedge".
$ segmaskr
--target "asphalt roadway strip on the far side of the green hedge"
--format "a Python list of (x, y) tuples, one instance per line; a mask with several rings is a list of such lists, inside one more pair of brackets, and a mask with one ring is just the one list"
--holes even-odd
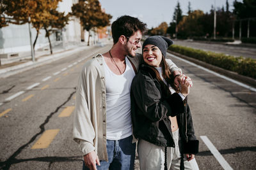
[(200, 41), (181, 41), (174, 40), (175, 45), (188, 46), (199, 50), (212, 51), (216, 53), (225, 53), (236, 57), (250, 57), (256, 59), (256, 45), (255, 46), (239, 46), (239, 45), (225, 45), (223, 43), (205, 43)]

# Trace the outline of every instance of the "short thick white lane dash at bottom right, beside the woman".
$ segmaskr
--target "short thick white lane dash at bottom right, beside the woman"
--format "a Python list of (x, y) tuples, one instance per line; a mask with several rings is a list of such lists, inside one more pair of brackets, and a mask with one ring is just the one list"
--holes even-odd
[(200, 136), (200, 138), (204, 141), (205, 145), (209, 148), (212, 155), (218, 160), (223, 169), (232, 169), (232, 167), (228, 164), (228, 162), (221, 156), (220, 152), (214, 147), (211, 141), (207, 138), (207, 136)]

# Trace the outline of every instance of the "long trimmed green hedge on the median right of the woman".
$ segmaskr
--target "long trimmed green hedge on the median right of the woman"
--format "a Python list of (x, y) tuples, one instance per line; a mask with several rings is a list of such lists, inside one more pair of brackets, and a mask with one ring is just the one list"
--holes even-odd
[(205, 52), (186, 46), (171, 45), (169, 50), (177, 52), (194, 59), (202, 60), (214, 66), (234, 71), (244, 76), (256, 79), (256, 60), (244, 57), (234, 57), (223, 53)]

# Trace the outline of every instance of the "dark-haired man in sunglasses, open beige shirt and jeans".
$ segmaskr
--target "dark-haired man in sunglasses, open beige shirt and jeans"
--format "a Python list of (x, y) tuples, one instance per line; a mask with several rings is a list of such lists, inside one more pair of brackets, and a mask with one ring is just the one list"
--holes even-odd
[[(83, 169), (133, 169), (136, 144), (132, 142), (130, 88), (143, 60), (136, 50), (145, 29), (138, 18), (119, 17), (111, 25), (111, 50), (83, 67), (73, 128), (73, 138), (84, 155)], [(168, 64), (173, 74), (181, 73), (171, 60)]]

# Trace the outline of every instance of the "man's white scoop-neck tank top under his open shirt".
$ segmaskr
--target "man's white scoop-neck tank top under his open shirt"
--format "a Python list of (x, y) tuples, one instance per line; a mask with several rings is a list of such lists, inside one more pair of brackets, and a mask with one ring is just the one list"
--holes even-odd
[[(103, 57), (104, 60), (104, 57)], [(131, 83), (135, 76), (131, 62), (125, 57), (126, 68), (123, 74), (113, 73), (105, 60), (107, 139), (119, 140), (132, 135)]]

